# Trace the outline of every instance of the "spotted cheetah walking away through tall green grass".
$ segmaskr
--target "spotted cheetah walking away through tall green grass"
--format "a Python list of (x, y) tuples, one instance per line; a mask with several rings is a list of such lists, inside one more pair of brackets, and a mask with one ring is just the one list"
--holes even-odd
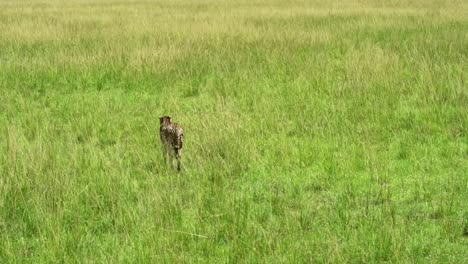
[(180, 159), (184, 142), (182, 127), (172, 123), (170, 116), (162, 116), (159, 118), (159, 136), (163, 148), (164, 160), (167, 163), (169, 157), (171, 164), (173, 164), (173, 158), (175, 158), (177, 160), (177, 171), (180, 171)]

